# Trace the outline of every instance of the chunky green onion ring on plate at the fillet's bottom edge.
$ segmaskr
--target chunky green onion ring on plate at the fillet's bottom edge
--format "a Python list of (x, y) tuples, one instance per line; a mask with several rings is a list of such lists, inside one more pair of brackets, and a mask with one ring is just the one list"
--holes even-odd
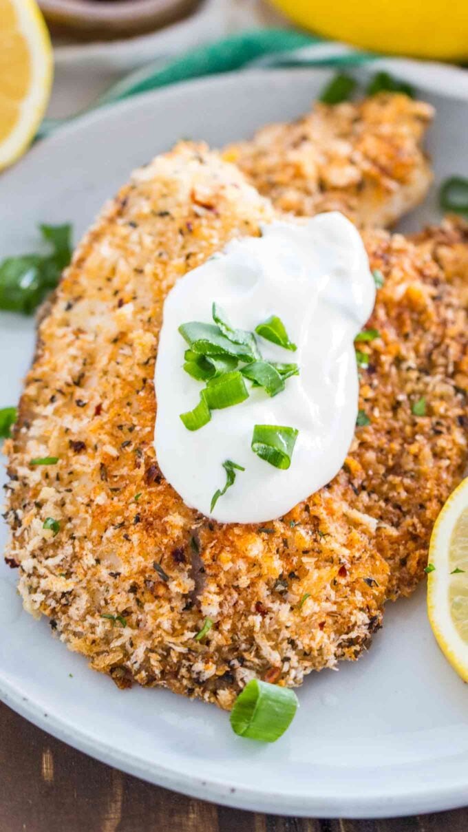
[(251, 740), (275, 742), (291, 725), (298, 705), (290, 688), (251, 679), (234, 702), (232, 730)]

